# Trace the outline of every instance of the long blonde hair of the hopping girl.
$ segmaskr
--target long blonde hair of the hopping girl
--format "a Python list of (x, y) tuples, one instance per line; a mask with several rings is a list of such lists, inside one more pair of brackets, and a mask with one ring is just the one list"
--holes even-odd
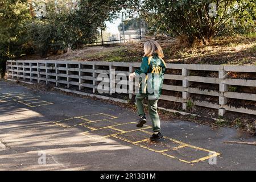
[(164, 57), (162, 47), (155, 40), (149, 40), (144, 43), (144, 51), (144, 56), (147, 57), (152, 56), (154, 53), (157, 53), (159, 57)]

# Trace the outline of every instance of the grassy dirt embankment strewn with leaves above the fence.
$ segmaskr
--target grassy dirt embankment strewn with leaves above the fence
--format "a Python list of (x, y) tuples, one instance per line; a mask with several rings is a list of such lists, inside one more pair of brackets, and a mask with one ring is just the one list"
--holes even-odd
[[(46, 60), (139, 62), (143, 56), (143, 43), (148, 39), (105, 46), (85, 46), (65, 53), (59, 51), (57, 55), (49, 54)], [(256, 65), (256, 35), (218, 37), (207, 45), (193, 47), (184, 47), (181, 38), (155, 39), (163, 47), (167, 63)], [(27, 55), (21, 59), (40, 57)]]

